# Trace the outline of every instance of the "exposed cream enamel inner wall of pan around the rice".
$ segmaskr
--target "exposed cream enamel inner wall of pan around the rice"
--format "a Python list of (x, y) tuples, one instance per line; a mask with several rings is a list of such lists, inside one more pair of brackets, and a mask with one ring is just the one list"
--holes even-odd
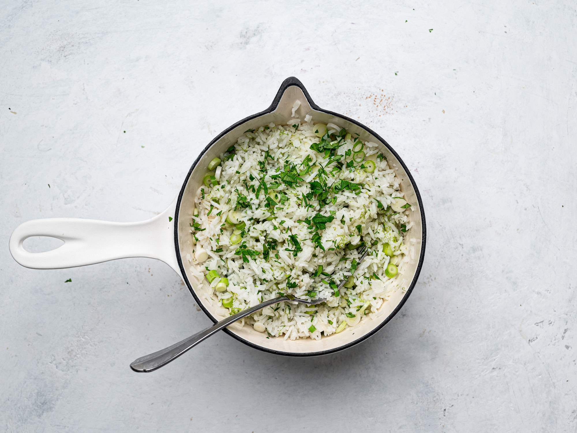
[[(217, 320), (223, 319), (223, 316), (219, 315), (219, 312), (223, 312), (222, 307), (220, 307), (218, 302), (215, 300), (212, 301), (212, 304), (207, 300), (206, 296), (208, 292), (206, 292), (206, 288), (208, 286), (208, 282), (206, 280), (204, 281), (203, 285), (204, 289), (198, 290), (197, 280), (190, 273), (190, 262), (188, 262), (186, 259), (187, 255), (190, 255), (191, 257), (193, 256), (193, 244), (190, 242), (191, 235), (189, 223), (191, 221), (190, 218), (194, 209), (194, 194), (196, 194), (196, 191), (201, 186), (203, 182), (203, 176), (207, 171), (206, 167), (212, 158), (219, 156), (222, 152), (224, 152), (224, 150), (230, 147), (231, 144), (236, 143), (238, 137), (241, 136), (247, 129), (257, 129), (258, 127), (269, 124), (270, 122), (286, 125), (287, 122), (291, 119), (291, 110), (295, 100), (297, 99), (301, 101), (301, 106), (298, 107), (296, 113), (298, 114), (298, 117), (303, 121), (305, 115), (310, 114), (313, 116), (313, 121), (315, 123), (322, 122), (326, 124), (328, 122), (332, 122), (338, 126), (346, 128), (348, 132), (358, 133), (363, 141), (369, 140), (374, 143), (380, 143), (376, 137), (349, 121), (343, 120), (340, 117), (335, 117), (334, 115), (322, 113), (321, 111), (313, 110), (306, 100), (302, 90), (297, 86), (291, 86), (288, 87), (286, 91), (284, 91), (282, 99), (280, 100), (280, 103), (278, 104), (278, 107), (275, 111), (269, 114), (264, 114), (237, 126), (237, 128), (228, 132), (212, 145), (212, 147), (200, 159), (197, 166), (193, 170), (188, 183), (186, 184), (185, 192), (182, 197), (181, 207), (178, 213), (178, 242), (186, 277), (189, 279), (190, 284), (192, 285), (198, 298), (201, 300), (204, 308), (207, 309), (213, 318)], [(411, 220), (414, 221), (414, 225), (411, 227), (409, 232), (407, 232), (406, 238), (407, 242), (409, 242), (411, 239), (414, 240), (411, 244), (414, 245), (414, 253), (410, 260), (410, 266), (406, 268), (406, 271), (403, 275), (399, 274), (399, 277), (397, 277), (399, 282), (399, 289), (393, 296), (391, 296), (391, 298), (389, 298), (387, 302), (381, 306), (377, 312), (377, 318), (373, 320), (363, 319), (362, 322), (357, 326), (352, 328), (347, 327), (347, 329), (341, 333), (323, 337), (320, 339), (320, 341), (316, 341), (310, 338), (297, 339), (294, 341), (291, 341), (290, 339), (284, 341), (282, 337), (267, 339), (267, 335), (265, 333), (258, 333), (252, 328), (252, 326), (249, 325), (245, 325), (243, 327), (240, 327), (238, 324), (232, 325), (229, 327), (230, 331), (238, 335), (238, 337), (241, 337), (254, 345), (262, 346), (263, 348), (267, 348), (269, 350), (278, 350), (279, 352), (287, 353), (323, 352), (324, 350), (335, 349), (340, 346), (349, 344), (358, 338), (361, 338), (363, 335), (369, 333), (374, 328), (379, 326), (380, 323), (382, 323), (387, 319), (389, 315), (391, 315), (397, 305), (399, 305), (400, 301), (402, 301), (403, 297), (406, 296), (406, 293), (404, 290), (402, 290), (402, 288), (409, 288), (410, 283), (415, 275), (415, 271), (417, 270), (419, 256), (421, 254), (422, 248), (422, 221), (419, 203), (417, 201), (417, 197), (415, 196), (413, 185), (409, 180), (409, 176), (407, 176), (402, 165), (400, 165), (395, 156), (392, 155), (384, 145), (382, 151), (387, 156), (389, 166), (392, 166), (391, 168), (396, 171), (398, 177), (402, 181), (401, 190), (406, 193), (407, 200), (409, 200), (409, 203), (411, 203), (411, 210), (413, 210), (413, 212), (411, 212), (410, 217)]]

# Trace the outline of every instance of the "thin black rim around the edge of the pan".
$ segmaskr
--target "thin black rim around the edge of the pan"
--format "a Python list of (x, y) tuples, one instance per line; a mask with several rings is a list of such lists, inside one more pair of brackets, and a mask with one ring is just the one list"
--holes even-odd
[(407, 176), (409, 176), (409, 180), (411, 182), (411, 185), (413, 185), (413, 188), (415, 189), (415, 195), (417, 196), (417, 201), (419, 203), (419, 210), (421, 212), (421, 220), (422, 220), (422, 247), (421, 247), (421, 254), (419, 255), (419, 262), (417, 264), (417, 270), (415, 271), (415, 275), (413, 277), (413, 281), (411, 281), (411, 284), (409, 286), (409, 288), (407, 289), (407, 291), (405, 292), (402, 300), (400, 301), (399, 305), (396, 306), (396, 308), (391, 312), (391, 314), (388, 315), (388, 317), (383, 320), (382, 323), (379, 324), (379, 326), (377, 326), (375, 329), (369, 331), (368, 333), (361, 335), (361, 337), (358, 337), (357, 339), (355, 339), (354, 341), (351, 341), (350, 343), (344, 344), (342, 346), (338, 346), (337, 348), (333, 348), (333, 349), (329, 349), (329, 350), (321, 350), (319, 352), (306, 352), (306, 353), (293, 353), (293, 352), (282, 352), (280, 350), (274, 350), (274, 349), (268, 349), (265, 348), (263, 346), (258, 346), (256, 344), (253, 344), (250, 341), (245, 340), (242, 337), (239, 337), (238, 335), (234, 334), (232, 331), (228, 330), (228, 329), (224, 329), (224, 332), (226, 332), (228, 335), (230, 335), (231, 337), (237, 339), (238, 341), (254, 348), (254, 349), (258, 349), (258, 350), (262, 350), (263, 352), (268, 352), (268, 353), (273, 353), (276, 355), (282, 355), (282, 356), (294, 356), (294, 357), (308, 357), (308, 356), (321, 356), (321, 355), (326, 355), (329, 353), (335, 353), (335, 352), (340, 352), (340, 350), (344, 350), (344, 349), (348, 349), (354, 345), (359, 344), (362, 341), (365, 341), (366, 339), (368, 339), (369, 337), (372, 337), (374, 334), (376, 334), (379, 330), (383, 329), (383, 327), (389, 323), (391, 321), (392, 318), (394, 318), (396, 316), (396, 314), (399, 312), (399, 310), (403, 307), (403, 305), (406, 303), (407, 299), (409, 299), (409, 296), (411, 295), (411, 293), (413, 292), (413, 288), (415, 287), (415, 285), (417, 284), (417, 280), (419, 278), (419, 274), (421, 273), (421, 268), (425, 259), (425, 244), (426, 244), (426, 224), (425, 224), (425, 211), (423, 210), (423, 203), (422, 203), (422, 199), (421, 199), (421, 193), (419, 193), (419, 190), (417, 188), (417, 184), (415, 184), (415, 180), (413, 179), (413, 176), (411, 175), (409, 169), (407, 168), (407, 166), (405, 165), (405, 163), (403, 162), (403, 160), (400, 158), (400, 156), (397, 154), (397, 152), (395, 152), (395, 150), (391, 147), (391, 145), (389, 145), (387, 143), (387, 141), (383, 140), (383, 138), (381, 138), (380, 135), (378, 135), (376, 132), (374, 132), (372, 129), (366, 127), (365, 125), (361, 124), (361, 122), (357, 122), (354, 119), (351, 119), (349, 117), (346, 117), (342, 114), (338, 114), (338, 113), (334, 113), (334, 111), (328, 111), (328, 110), (323, 110), (321, 109), (319, 106), (317, 106), (317, 104), (315, 104), (313, 102), (313, 100), (310, 98), (309, 92), (306, 91), (305, 86), (301, 83), (301, 81), (299, 81), (296, 77), (288, 77), (286, 80), (283, 81), (283, 83), (280, 85), (279, 91), (276, 92), (276, 96), (275, 99), (273, 99), (271, 105), (264, 111), (260, 111), (260, 113), (256, 113), (253, 115), (250, 115), (248, 117), (243, 118), (242, 120), (236, 122), (235, 124), (229, 126), (227, 129), (223, 130), (223, 132), (221, 132), (218, 136), (216, 136), (214, 139), (212, 139), (212, 141), (210, 143), (208, 143), (208, 145), (204, 148), (204, 150), (202, 152), (200, 152), (200, 154), (198, 155), (198, 158), (196, 159), (196, 161), (194, 161), (193, 165), (190, 167), (190, 170), (188, 171), (188, 174), (186, 175), (186, 178), (182, 184), (182, 188), (180, 193), (178, 194), (178, 200), (177, 200), (177, 205), (176, 205), (176, 209), (174, 212), (174, 248), (176, 251), (176, 255), (177, 255), (177, 262), (178, 262), (178, 267), (181, 270), (181, 274), (182, 274), (182, 279), (185, 281), (186, 286), (188, 287), (190, 294), (192, 294), (192, 296), (194, 297), (194, 300), (196, 300), (197, 305), (203, 309), (204, 313), (208, 316), (209, 319), (212, 320), (212, 322), (216, 323), (218, 322), (217, 319), (215, 319), (212, 314), (206, 309), (204, 308), (204, 305), (201, 303), (200, 299), (198, 298), (198, 296), (196, 295), (196, 293), (194, 293), (194, 289), (192, 288), (192, 285), (190, 285), (190, 282), (188, 280), (188, 277), (186, 277), (186, 272), (184, 269), (184, 265), (182, 263), (182, 257), (181, 257), (181, 253), (180, 253), (180, 248), (178, 246), (178, 211), (180, 210), (180, 206), (181, 206), (181, 202), (182, 202), (182, 197), (184, 195), (184, 191), (186, 189), (186, 184), (188, 183), (188, 180), (190, 178), (190, 175), (192, 174), (192, 171), (194, 170), (194, 168), (196, 167), (198, 161), (200, 160), (200, 158), (202, 158), (202, 156), (208, 151), (209, 148), (212, 147), (213, 144), (216, 143), (216, 141), (220, 140), (221, 137), (223, 137), (224, 135), (226, 135), (228, 132), (230, 132), (231, 130), (233, 130), (234, 128), (236, 128), (239, 125), (242, 125), (245, 122), (248, 122), (249, 120), (253, 120), (254, 118), (260, 117), (261, 115), (264, 114), (269, 114), (272, 113), (272, 111), (274, 111), (276, 109), (276, 107), (278, 106), (280, 99), (282, 98), (282, 95), (284, 94), (284, 91), (286, 91), (286, 89), (288, 87), (291, 86), (297, 86), (298, 88), (300, 88), (302, 90), (302, 92), (305, 95), (306, 100), (308, 101), (308, 103), (310, 104), (310, 107), (313, 110), (316, 111), (321, 111), (323, 113), (327, 113), (327, 114), (331, 114), (334, 115), (336, 117), (342, 118), (344, 120), (347, 120), (357, 126), (359, 126), (360, 128), (366, 130), (366, 132), (369, 132), (370, 134), (372, 134), (374, 137), (376, 137), (376, 139), (378, 139), (381, 143), (383, 143), (385, 145), (385, 147), (388, 148), (389, 151), (391, 151), (391, 153), (393, 155), (395, 155), (395, 158), (399, 161), (400, 165), (403, 167), (404, 171), (407, 173)]

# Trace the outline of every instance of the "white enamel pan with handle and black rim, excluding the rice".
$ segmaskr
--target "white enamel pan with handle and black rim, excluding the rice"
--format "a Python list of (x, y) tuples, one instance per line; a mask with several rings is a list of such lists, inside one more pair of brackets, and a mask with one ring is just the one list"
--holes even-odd
[[(125, 257), (151, 257), (162, 260), (180, 275), (190, 293), (207, 316), (218, 322), (223, 317), (223, 309), (211, 300), (203, 289), (197, 290), (198, 281), (190, 273), (187, 257), (193, 255), (190, 242), (191, 216), (194, 210), (194, 194), (203, 183), (207, 165), (212, 158), (222, 154), (247, 129), (274, 122), (286, 125), (291, 119), (295, 100), (301, 101), (296, 114), (304, 119), (307, 114), (314, 122), (327, 124), (332, 122), (347, 132), (358, 133), (363, 141), (372, 141), (382, 145), (381, 152), (387, 157), (389, 166), (396, 171), (401, 180), (401, 190), (411, 203), (410, 219), (414, 225), (406, 233), (406, 239), (413, 246), (413, 256), (404, 274), (400, 275), (399, 290), (385, 302), (377, 317), (364, 320), (358, 326), (347, 327), (339, 334), (323, 337), (319, 341), (297, 339), (286, 341), (282, 337), (265, 338), (264, 334), (254, 331), (252, 326), (231, 325), (225, 332), (232, 337), (252, 346), (276, 354), (287, 356), (316, 356), (338, 352), (353, 346), (379, 331), (391, 320), (409, 298), (415, 284), (423, 258), (425, 256), (425, 213), (421, 196), (409, 169), (393, 148), (379, 135), (359, 122), (317, 106), (302, 83), (295, 77), (284, 80), (270, 107), (235, 123), (215, 137), (200, 153), (193, 163), (182, 184), (178, 197), (162, 214), (148, 221), (121, 223), (98, 221), (95, 219), (50, 218), (28, 221), (16, 228), (10, 237), (10, 253), (22, 266), (34, 269), (58, 269), (87, 264), (106, 262)], [(171, 221), (169, 219), (171, 218)], [(31, 236), (59, 238), (64, 244), (52, 251), (31, 253), (23, 248), (23, 242)], [(411, 241), (412, 240), (412, 241)], [(208, 284), (204, 284), (206, 288)], [(196, 330), (183, 329), (182, 337)]]

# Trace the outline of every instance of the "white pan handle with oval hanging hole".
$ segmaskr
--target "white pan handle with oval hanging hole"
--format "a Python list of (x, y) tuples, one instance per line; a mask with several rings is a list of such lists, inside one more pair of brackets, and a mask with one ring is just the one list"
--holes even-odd
[[(176, 201), (160, 215), (140, 222), (78, 218), (27, 221), (16, 227), (10, 236), (10, 253), (16, 262), (33, 269), (70, 268), (126, 257), (150, 257), (162, 260), (180, 275), (174, 249)], [(64, 244), (52, 251), (31, 253), (23, 247), (24, 240), (31, 236), (55, 237)]]

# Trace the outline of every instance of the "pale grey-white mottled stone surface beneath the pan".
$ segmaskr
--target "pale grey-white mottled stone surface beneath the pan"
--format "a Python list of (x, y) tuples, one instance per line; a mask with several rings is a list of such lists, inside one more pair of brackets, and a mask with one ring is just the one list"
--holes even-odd
[[(437, 3), (3, 2), (0, 430), (577, 431), (575, 2)], [(413, 173), (429, 234), (413, 295), (331, 356), (220, 334), (133, 373), (209, 324), (177, 275), (29, 270), (10, 233), (158, 214), (291, 75)]]

